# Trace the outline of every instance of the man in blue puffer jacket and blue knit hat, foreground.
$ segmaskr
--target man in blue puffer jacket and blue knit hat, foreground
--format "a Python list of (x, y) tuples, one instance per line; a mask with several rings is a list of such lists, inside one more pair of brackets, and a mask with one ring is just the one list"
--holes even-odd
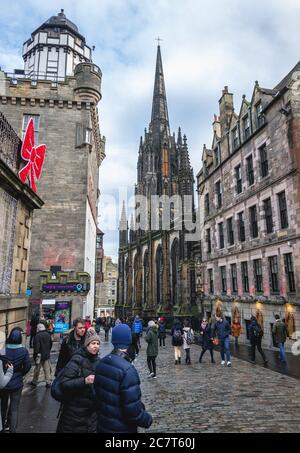
[(136, 433), (138, 426), (149, 428), (152, 417), (141, 401), (139, 375), (127, 354), (131, 344), (129, 326), (114, 327), (111, 342), (113, 351), (96, 368), (97, 432)]

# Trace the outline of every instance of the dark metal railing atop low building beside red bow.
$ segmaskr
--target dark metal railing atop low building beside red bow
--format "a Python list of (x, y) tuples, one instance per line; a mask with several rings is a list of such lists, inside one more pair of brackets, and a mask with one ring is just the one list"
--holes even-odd
[(16, 132), (0, 112), (0, 159), (15, 173), (19, 169), (21, 144), (22, 142)]

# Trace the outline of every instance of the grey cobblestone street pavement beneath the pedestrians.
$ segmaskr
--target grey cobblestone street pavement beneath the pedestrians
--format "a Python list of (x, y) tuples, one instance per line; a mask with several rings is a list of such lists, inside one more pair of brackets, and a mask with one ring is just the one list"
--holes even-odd
[[(216, 364), (210, 363), (208, 352), (204, 363), (199, 364), (200, 348), (196, 345), (192, 346), (192, 365), (186, 366), (183, 358), (183, 363), (175, 366), (170, 337), (166, 344), (165, 349), (160, 348), (157, 358), (156, 380), (147, 379), (143, 339), (135, 363), (143, 402), (154, 419), (147, 432), (300, 432), (298, 380), (235, 357), (232, 367), (224, 368), (218, 353), (215, 353)], [(111, 348), (101, 332), (101, 356)], [(56, 357), (57, 354), (52, 354), (53, 362)], [(26, 382), (31, 380), (32, 372)], [(25, 385), (18, 431), (55, 432), (58, 408), (45, 382), (36, 389)]]

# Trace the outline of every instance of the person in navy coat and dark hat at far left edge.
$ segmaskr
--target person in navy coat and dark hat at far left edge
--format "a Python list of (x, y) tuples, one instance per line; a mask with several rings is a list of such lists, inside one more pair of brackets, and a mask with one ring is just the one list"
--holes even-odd
[(10, 433), (16, 433), (24, 376), (31, 368), (28, 350), (22, 345), (20, 327), (14, 327), (10, 332), (6, 340), (5, 355), (14, 369), (11, 380), (1, 391), (2, 426), (6, 426)]

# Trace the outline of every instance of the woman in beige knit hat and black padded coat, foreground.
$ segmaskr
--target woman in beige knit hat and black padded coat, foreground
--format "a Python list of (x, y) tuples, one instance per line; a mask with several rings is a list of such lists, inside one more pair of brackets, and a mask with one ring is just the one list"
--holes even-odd
[(64, 395), (57, 433), (95, 433), (97, 427), (94, 380), (100, 337), (89, 329), (84, 346), (75, 352), (60, 378)]

